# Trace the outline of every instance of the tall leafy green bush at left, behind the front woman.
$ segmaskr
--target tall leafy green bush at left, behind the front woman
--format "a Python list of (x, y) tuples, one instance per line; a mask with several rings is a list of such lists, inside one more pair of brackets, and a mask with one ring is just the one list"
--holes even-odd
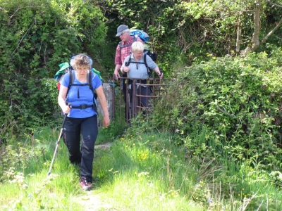
[[(104, 41), (104, 16), (73, 1), (0, 1), (0, 134), (54, 122), (59, 64), (72, 53), (97, 57)], [(11, 134), (10, 134), (11, 135)]]

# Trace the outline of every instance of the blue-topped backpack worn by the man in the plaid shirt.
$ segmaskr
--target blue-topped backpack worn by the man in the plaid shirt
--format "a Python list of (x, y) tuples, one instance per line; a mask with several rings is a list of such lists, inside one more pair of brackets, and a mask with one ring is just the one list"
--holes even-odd
[[(133, 41), (136, 41), (137, 37), (142, 39), (142, 41), (145, 41), (145, 44), (147, 43), (147, 41), (149, 41), (149, 35), (143, 30), (130, 30), (130, 36), (134, 37)], [(122, 41), (119, 42), (120, 50), (127, 46), (131, 46), (131, 44), (123, 45)], [(149, 49), (144, 49), (144, 53), (146, 53), (149, 57), (151, 57), (153, 61), (157, 60), (158, 55), (154, 51), (150, 51)]]

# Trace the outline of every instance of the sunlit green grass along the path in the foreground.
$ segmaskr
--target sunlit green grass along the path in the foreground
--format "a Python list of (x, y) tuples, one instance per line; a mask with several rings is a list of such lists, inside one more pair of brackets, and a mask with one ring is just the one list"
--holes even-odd
[(80, 189), (79, 169), (70, 165), (63, 141), (47, 175), (59, 129), (27, 136), (6, 152), (14, 168), (0, 177), (0, 210), (282, 210), (281, 189), (259, 167), (228, 169), (187, 157), (165, 133), (129, 129), (114, 139), (116, 126), (100, 130), (99, 142), (112, 145), (94, 153), (91, 192)]

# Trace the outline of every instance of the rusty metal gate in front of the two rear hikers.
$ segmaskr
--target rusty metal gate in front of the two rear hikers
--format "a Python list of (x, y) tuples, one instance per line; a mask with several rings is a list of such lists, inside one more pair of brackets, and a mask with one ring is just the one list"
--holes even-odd
[[(129, 79), (119, 77), (113, 93), (113, 117), (119, 113), (120, 121), (130, 122), (137, 113), (149, 114), (160, 98), (168, 97), (168, 87), (176, 79)], [(117, 102), (118, 101), (118, 102)]]

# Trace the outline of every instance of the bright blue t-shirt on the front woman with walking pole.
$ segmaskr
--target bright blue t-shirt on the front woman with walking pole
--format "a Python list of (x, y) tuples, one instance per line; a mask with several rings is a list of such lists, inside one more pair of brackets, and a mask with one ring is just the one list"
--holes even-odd
[[(73, 71), (75, 73), (75, 70)], [(61, 84), (64, 87), (68, 87), (69, 82), (70, 82), (70, 73), (68, 72), (66, 73), (66, 75), (63, 76), (63, 79), (61, 80)], [(78, 81), (75, 75), (73, 84), (87, 84), (87, 83), (81, 83), (80, 81)], [(101, 79), (99, 79), (96, 73), (92, 72), (93, 89), (97, 89), (100, 86), (102, 86)], [(79, 93), (79, 98), (78, 98), (78, 93)], [(81, 105), (91, 106), (93, 105), (93, 103), (96, 102), (94, 101), (94, 95), (88, 85), (86, 86), (72, 85), (70, 90), (68, 91), (68, 96), (66, 96), (66, 103), (71, 103), (71, 106), (81, 106)], [(97, 113), (94, 111), (92, 107), (85, 109), (72, 108), (70, 113), (68, 113), (68, 117), (73, 117), (73, 118), (92, 117), (93, 115), (97, 115)]]

